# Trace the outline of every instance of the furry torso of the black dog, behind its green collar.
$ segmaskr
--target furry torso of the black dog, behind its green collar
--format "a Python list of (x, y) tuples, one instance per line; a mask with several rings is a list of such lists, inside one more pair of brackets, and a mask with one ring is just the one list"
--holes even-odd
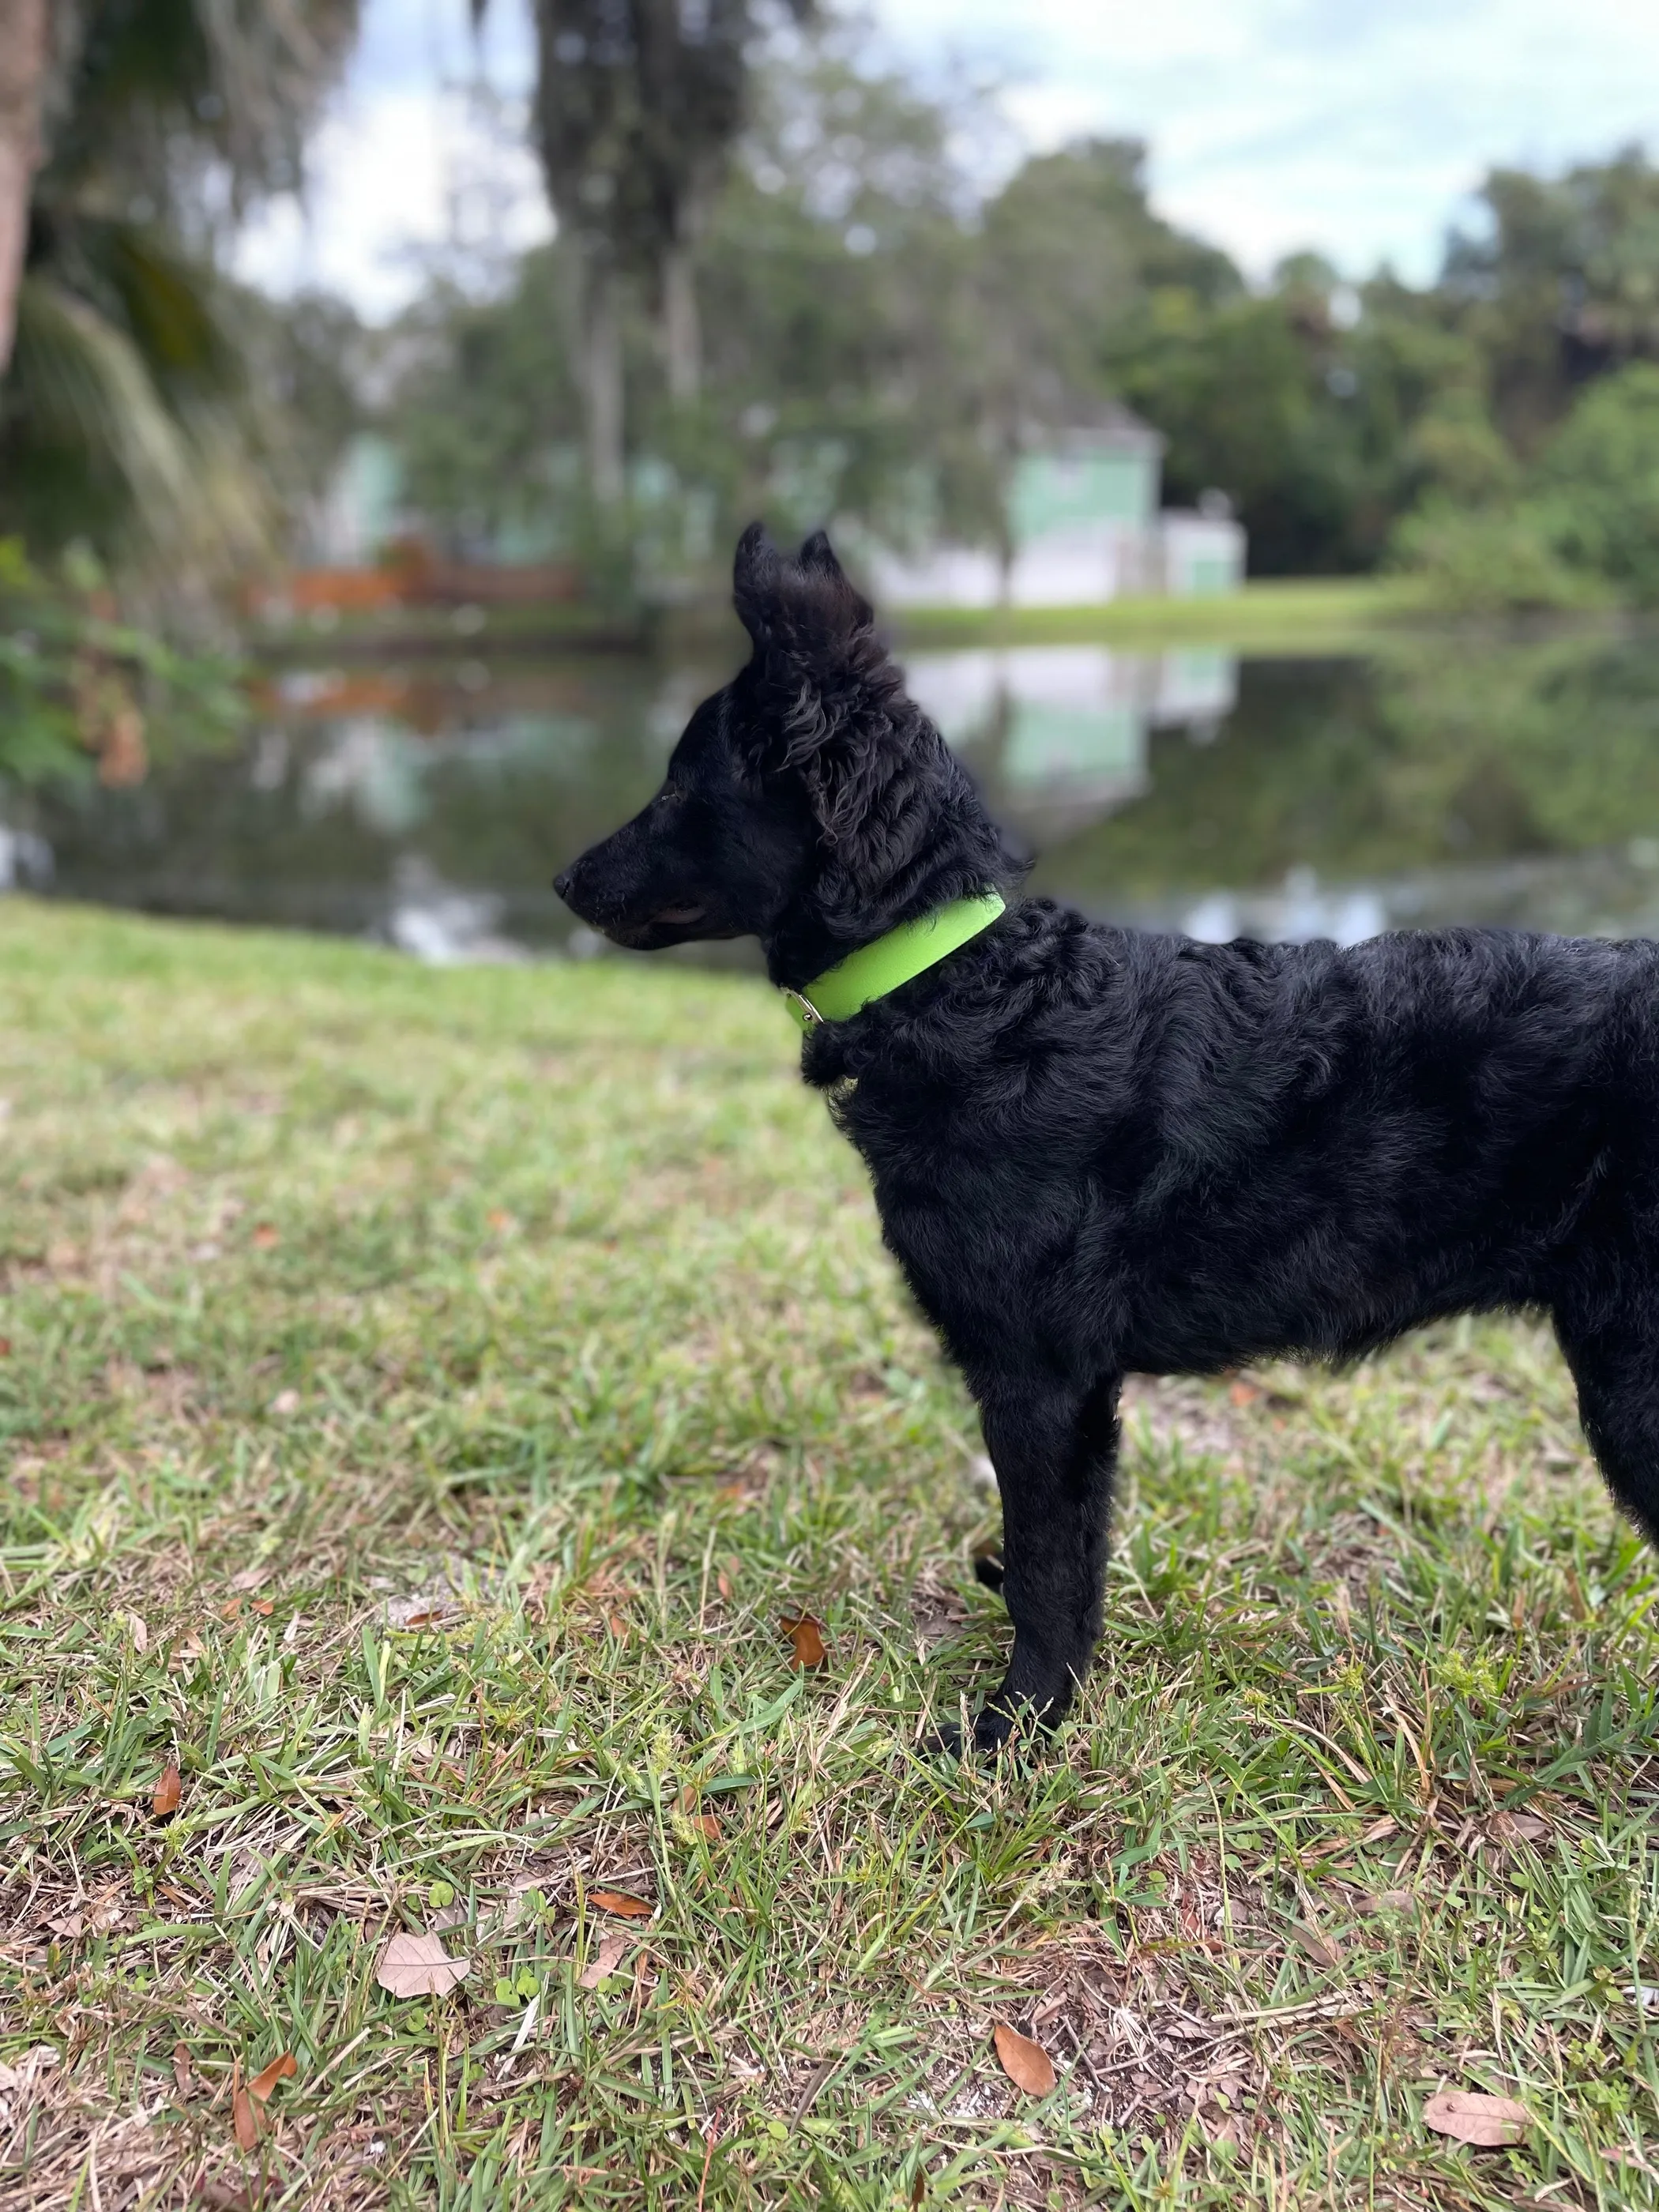
[(894, 1250), (960, 1356), (1214, 1369), (1575, 1303), (1652, 1223), (1659, 947), (1194, 945), (1031, 900), (825, 1033)]

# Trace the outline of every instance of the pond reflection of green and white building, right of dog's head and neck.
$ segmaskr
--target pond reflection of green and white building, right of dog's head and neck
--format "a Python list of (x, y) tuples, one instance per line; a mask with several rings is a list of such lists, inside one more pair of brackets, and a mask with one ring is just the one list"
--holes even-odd
[(1232, 710), (1237, 661), (1219, 650), (1110, 653), (1011, 646), (918, 655), (909, 690), (1031, 830), (1077, 830), (1146, 790), (1146, 734), (1206, 741)]

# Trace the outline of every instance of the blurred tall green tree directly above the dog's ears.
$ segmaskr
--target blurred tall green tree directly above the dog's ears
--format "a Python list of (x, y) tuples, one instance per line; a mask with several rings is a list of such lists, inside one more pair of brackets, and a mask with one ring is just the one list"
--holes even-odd
[(699, 259), (712, 400), (675, 447), (719, 487), (721, 533), (761, 509), (995, 533), (958, 122), (834, 35), (761, 77)]

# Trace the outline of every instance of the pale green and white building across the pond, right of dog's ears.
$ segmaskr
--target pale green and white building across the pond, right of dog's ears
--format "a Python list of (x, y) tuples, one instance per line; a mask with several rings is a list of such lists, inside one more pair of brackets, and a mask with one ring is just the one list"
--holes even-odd
[[(1159, 511), (1164, 440), (1126, 407), (1086, 429), (1033, 440), (1013, 471), (1006, 575), (989, 549), (920, 555), (872, 549), (889, 606), (1095, 606), (1124, 595), (1192, 599), (1237, 591), (1245, 533), (1225, 500)], [(1212, 511), (1214, 509), (1214, 511)]]

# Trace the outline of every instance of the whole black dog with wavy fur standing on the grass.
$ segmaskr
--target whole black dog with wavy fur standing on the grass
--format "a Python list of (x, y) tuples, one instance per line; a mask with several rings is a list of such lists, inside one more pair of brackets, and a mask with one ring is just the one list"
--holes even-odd
[[(1020, 867), (872, 611), (750, 529), (754, 657), (557, 889), (619, 945), (759, 936), (805, 991)], [(1099, 1635), (1124, 1374), (1354, 1356), (1542, 1305), (1619, 1502), (1659, 1535), (1659, 945), (1444, 929), (1194, 945), (1011, 902), (810, 1029), (810, 1084), (960, 1363), (1004, 1513), (1013, 1659), (1057, 1719)]]

